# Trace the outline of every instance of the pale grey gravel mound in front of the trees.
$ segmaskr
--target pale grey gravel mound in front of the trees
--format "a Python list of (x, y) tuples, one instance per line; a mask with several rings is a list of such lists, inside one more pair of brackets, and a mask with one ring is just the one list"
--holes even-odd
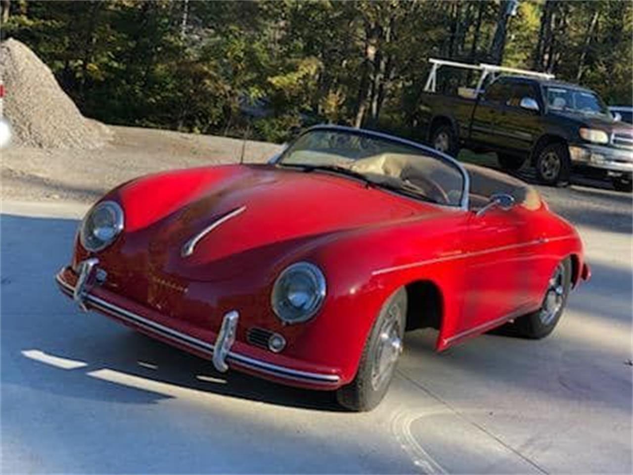
[(85, 118), (57, 83), (53, 72), (25, 44), (0, 44), (3, 113), (15, 146), (97, 148), (111, 136), (96, 120)]

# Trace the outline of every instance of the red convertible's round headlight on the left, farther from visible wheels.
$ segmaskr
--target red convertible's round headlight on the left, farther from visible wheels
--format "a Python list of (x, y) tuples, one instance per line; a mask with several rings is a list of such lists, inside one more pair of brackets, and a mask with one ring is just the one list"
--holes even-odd
[(84, 217), (79, 232), (82, 246), (89, 251), (101, 251), (110, 246), (123, 231), (123, 210), (114, 201), (103, 201)]

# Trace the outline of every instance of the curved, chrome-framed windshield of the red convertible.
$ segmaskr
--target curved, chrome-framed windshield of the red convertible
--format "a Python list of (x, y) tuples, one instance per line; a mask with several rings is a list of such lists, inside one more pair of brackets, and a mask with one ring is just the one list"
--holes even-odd
[(396, 137), (363, 130), (308, 130), (277, 160), (281, 167), (361, 179), (423, 201), (460, 206), (465, 172), (449, 158)]

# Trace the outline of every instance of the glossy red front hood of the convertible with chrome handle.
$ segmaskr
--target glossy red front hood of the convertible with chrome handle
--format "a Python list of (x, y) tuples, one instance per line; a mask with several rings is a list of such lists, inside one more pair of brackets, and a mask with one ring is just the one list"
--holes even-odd
[[(272, 166), (222, 168), (222, 179), (130, 236), (154, 272), (197, 281), (274, 267), (316, 239), (421, 215), (438, 206), (321, 172)], [(173, 186), (173, 184), (172, 184)], [(198, 238), (191, 255), (183, 247)], [(138, 253), (136, 253), (138, 255)]]

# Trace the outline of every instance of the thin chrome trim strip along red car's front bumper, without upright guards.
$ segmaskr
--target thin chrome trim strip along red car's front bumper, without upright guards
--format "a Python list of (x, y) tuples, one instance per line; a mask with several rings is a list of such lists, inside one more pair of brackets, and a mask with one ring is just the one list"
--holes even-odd
[[(60, 274), (57, 274), (55, 276), (55, 280), (59, 284), (61, 290), (66, 293), (66, 295), (73, 295), (75, 288), (61, 278), (61, 272)], [(193, 336), (189, 336), (188, 334), (181, 333), (170, 327), (161, 325), (160, 323), (154, 322), (153, 320), (141, 317), (141, 315), (137, 315), (134, 312), (125, 310), (125, 308), (118, 307), (118, 305), (114, 305), (113, 303), (105, 301), (95, 295), (87, 294), (85, 295), (85, 300), (89, 302), (92, 307), (97, 308), (97, 310), (101, 310), (102, 312), (114, 315), (118, 319), (122, 319), (130, 323), (134, 323), (137, 326), (141, 326), (148, 330), (154, 331), (158, 334), (161, 334), (162, 336), (171, 338), (184, 345), (189, 345), (198, 351), (208, 353), (211, 356), (213, 355), (214, 346), (211, 345), (211, 343), (207, 343), (206, 341), (203, 341), (201, 339), (194, 338)], [(241, 353), (235, 353), (231, 351), (227, 353), (227, 361), (229, 362), (229, 364), (237, 364), (239, 366), (252, 369), (253, 371), (269, 374), (270, 376), (280, 377), (282, 379), (289, 379), (292, 381), (299, 381), (303, 383), (335, 385), (338, 384), (339, 380), (341, 379), (335, 374), (300, 371), (298, 369), (291, 369), (285, 366), (275, 365), (272, 363), (257, 360), (255, 358), (242, 355)]]

